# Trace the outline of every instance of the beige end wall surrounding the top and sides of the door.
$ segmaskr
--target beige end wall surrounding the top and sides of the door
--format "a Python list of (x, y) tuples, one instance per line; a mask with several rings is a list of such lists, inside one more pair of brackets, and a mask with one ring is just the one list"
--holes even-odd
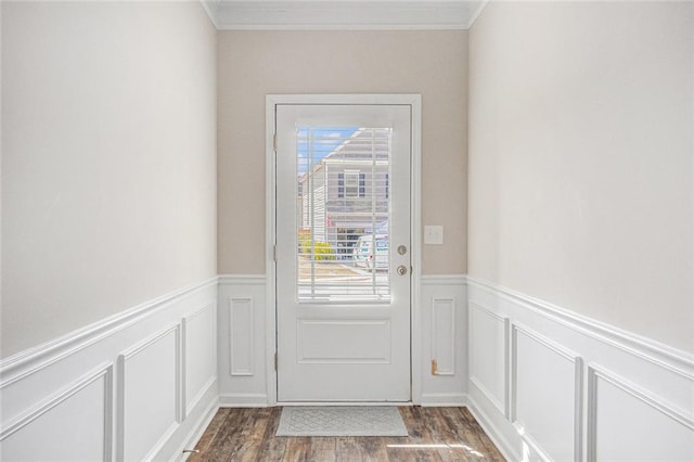
[(265, 95), (421, 93), (423, 272), (465, 271), (466, 31), (220, 31), (219, 272), (265, 273)]

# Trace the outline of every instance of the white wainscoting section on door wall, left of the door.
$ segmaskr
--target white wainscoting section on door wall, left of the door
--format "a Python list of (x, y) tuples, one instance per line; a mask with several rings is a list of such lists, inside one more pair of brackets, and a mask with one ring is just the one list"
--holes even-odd
[[(264, 407), (268, 394), (268, 367), (272, 364), (274, 325), (266, 316), (266, 277), (219, 277), (217, 355), (219, 402), (228, 407)], [(268, 331), (266, 328), (269, 328)]]

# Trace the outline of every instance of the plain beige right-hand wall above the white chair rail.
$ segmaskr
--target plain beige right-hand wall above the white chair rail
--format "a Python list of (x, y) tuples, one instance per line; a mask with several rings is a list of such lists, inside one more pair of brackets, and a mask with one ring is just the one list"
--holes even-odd
[(470, 274), (694, 351), (694, 3), (491, 2)]

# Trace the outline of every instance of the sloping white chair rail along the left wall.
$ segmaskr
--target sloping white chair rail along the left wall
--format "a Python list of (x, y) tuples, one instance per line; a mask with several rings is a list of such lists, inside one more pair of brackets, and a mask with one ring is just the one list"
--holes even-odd
[(217, 283), (218, 278), (215, 277), (200, 284), (171, 292), (3, 359), (0, 361), (0, 389), (123, 331), (144, 317), (165, 308), (177, 298), (192, 295)]

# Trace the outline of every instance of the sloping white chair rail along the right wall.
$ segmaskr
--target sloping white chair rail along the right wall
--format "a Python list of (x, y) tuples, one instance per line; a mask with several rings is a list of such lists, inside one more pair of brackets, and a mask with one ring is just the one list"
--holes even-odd
[(467, 277), (467, 285), (491, 291), (498, 297), (522, 305), (569, 329), (694, 380), (694, 356), (685, 351), (486, 281)]

